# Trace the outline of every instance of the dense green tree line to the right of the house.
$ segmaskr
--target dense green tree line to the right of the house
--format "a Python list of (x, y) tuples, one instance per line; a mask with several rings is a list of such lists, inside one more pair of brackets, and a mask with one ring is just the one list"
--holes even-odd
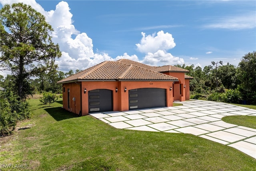
[[(201, 68), (200, 66), (180, 66), (189, 70), (190, 91), (197, 97), (208, 97), (212, 94), (220, 96), (215, 101), (221, 100), (223, 93), (228, 91), (236, 96), (236, 100), (224, 101), (247, 104), (256, 104), (256, 51), (245, 54), (238, 66), (227, 63), (222, 65), (222, 61), (212, 62), (212, 65)], [(192, 96), (193, 98), (194, 96)], [(210, 96), (212, 97), (212, 96)], [(209, 98), (208, 98), (209, 99)], [(214, 99), (211, 99), (214, 100)]]

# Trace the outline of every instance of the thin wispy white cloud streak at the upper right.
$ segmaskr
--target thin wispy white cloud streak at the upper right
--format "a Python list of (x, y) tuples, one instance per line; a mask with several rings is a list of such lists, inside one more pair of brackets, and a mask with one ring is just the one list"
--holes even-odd
[(256, 28), (255, 11), (246, 14), (224, 16), (212, 21), (210, 24), (203, 26), (204, 28), (222, 28), (230, 30), (242, 30)]

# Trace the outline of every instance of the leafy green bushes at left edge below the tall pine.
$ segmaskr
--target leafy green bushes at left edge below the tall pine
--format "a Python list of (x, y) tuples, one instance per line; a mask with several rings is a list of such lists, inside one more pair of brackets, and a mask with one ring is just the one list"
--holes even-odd
[(16, 121), (32, 116), (30, 105), (27, 100), (20, 100), (10, 89), (0, 92), (0, 132), (9, 135), (16, 126)]

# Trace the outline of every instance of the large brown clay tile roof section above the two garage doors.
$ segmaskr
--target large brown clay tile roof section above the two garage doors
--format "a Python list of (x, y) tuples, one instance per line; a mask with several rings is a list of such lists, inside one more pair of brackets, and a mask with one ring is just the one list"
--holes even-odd
[(175, 81), (178, 78), (168, 76), (159, 72), (141, 68), (133, 64), (122, 62), (105, 61), (82, 72), (69, 76), (57, 82), (75, 82), (82, 80), (169, 80)]

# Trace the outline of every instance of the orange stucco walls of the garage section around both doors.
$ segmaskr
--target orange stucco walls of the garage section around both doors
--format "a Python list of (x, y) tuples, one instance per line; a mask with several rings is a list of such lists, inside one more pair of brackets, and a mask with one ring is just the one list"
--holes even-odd
[[(98, 81), (63, 84), (62, 86), (65, 87), (65, 92), (63, 92), (63, 108), (77, 114), (81, 110), (82, 115), (88, 115), (88, 91), (93, 89), (110, 89), (113, 91), (113, 111), (127, 111), (129, 110), (129, 90), (136, 88), (164, 88), (166, 89), (166, 106), (172, 106), (173, 93), (172, 90), (170, 91), (170, 87), (173, 85), (172, 83), (173, 82)], [(127, 89), (126, 92), (124, 92), (125, 87)], [(118, 88), (117, 92), (116, 88)], [(70, 89), (70, 109), (68, 109), (68, 89)], [(84, 89), (86, 89), (86, 93), (84, 93)], [(76, 97), (76, 104), (72, 100), (73, 97)], [(80, 97), (82, 97), (82, 100)], [(82, 102), (82, 105), (78, 102)]]

